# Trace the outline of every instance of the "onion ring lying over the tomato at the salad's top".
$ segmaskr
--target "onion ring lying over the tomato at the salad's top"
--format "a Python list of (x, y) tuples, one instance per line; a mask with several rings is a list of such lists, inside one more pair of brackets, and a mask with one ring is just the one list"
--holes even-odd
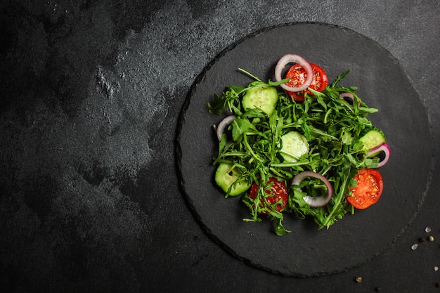
[(306, 80), (304, 81), (304, 84), (302, 86), (292, 87), (287, 86), (285, 84), (281, 84), (280, 86), (285, 89), (286, 91), (304, 91), (307, 89), (311, 82), (313, 81), (313, 69), (309, 62), (307, 62), (306, 59), (304, 59), (302, 56), (299, 56), (297, 54), (286, 54), (285, 56), (281, 57), (280, 60), (278, 60), (278, 63), (275, 67), (275, 79), (277, 82), (280, 82), (280, 80), (283, 80), (283, 77), (281, 77), (281, 72), (283, 72), (283, 69), (287, 66), (289, 63), (297, 63), (297, 65), (300, 65), (301, 67), (306, 70)]

